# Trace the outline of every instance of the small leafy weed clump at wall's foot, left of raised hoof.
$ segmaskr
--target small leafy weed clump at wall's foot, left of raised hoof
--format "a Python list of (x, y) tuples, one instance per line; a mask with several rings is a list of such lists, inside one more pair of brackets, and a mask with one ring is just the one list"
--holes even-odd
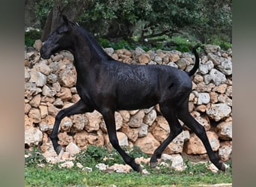
[(42, 163), (46, 163), (46, 159), (42, 156), (42, 152), (39, 148), (33, 147), (32, 150), (26, 150), (25, 154), (25, 166), (34, 166)]

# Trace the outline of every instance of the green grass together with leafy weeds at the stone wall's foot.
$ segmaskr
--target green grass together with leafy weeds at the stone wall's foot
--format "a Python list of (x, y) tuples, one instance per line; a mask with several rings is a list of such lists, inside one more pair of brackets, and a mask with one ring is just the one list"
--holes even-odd
[[(127, 149), (127, 152), (134, 156), (145, 156), (138, 147)], [(115, 150), (106, 150), (103, 147), (89, 146), (88, 150), (83, 150), (76, 155), (73, 161), (80, 162), (85, 167), (93, 168), (92, 172), (82, 171), (74, 166), (73, 168), (59, 168), (58, 164), (50, 165), (39, 155), (40, 150), (26, 151), (30, 154), (25, 159), (25, 186), (191, 186), (198, 184), (232, 183), (232, 170), (226, 173), (219, 171), (214, 174), (207, 169), (207, 164), (192, 165), (186, 159), (186, 170), (174, 171), (174, 169), (159, 166), (159, 170), (151, 169), (148, 165), (143, 165), (149, 174), (142, 175), (135, 171), (129, 174), (107, 174), (95, 168), (97, 163), (124, 163)], [(103, 161), (104, 156), (111, 156), (110, 160)], [(37, 165), (43, 163), (43, 168)], [(171, 163), (168, 163), (169, 165)], [(228, 163), (232, 165), (232, 162)]]

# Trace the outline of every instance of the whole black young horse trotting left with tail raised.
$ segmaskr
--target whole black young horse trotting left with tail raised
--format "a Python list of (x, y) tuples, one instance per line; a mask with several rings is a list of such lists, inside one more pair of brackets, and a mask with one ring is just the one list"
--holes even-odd
[(58, 128), (61, 120), (72, 114), (97, 110), (103, 115), (109, 133), (109, 141), (133, 170), (141, 172), (141, 166), (120, 147), (115, 130), (115, 111), (149, 108), (159, 103), (162, 115), (168, 121), (171, 132), (154, 151), (150, 167), (157, 165), (162, 151), (183, 131), (179, 120), (189, 126), (204, 143), (210, 161), (221, 171), (225, 165), (219, 162), (204, 127), (189, 114), (189, 94), (192, 91), (192, 76), (199, 67), (196, 48), (195, 66), (188, 73), (165, 65), (135, 65), (115, 61), (104, 52), (97, 41), (76, 23), (62, 16), (64, 22), (49, 36), (40, 49), (42, 58), (61, 50), (73, 53), (77, 72), (76, 88), (80, 100), (58, 112), (50, 138), (55, 152), (61, 152), (58, 144)]

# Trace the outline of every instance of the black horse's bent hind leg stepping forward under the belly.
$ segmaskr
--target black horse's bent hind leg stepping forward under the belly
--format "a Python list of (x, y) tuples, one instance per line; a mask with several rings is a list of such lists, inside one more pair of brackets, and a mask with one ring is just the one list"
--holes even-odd
[(174, 108), (171, 108), (171, 105), (164, 105), (164, 106), (160, 105), (160, 109), (161, 109), (162, 115), (168, 121), (168, 124), (170, 126), (170, 134), (165, 139), (165, 141), (163, 141), (162, 144), (160, 144), (160, 146), (156, 148), (156, 150), (153, 153), (153, 156), (151, 156), (150, 168), (156, 167), (157, 159), (161, 157), (162, 151), (165, 150), (168, 144), (170, 144), (171, 141), (175, 137), (177, 137), (177, 135), (179, 135), (180, 132), (183, 131), (182, 126), (180, 125), (180, 122), (177, 119), (176, 114), (174, 113)]

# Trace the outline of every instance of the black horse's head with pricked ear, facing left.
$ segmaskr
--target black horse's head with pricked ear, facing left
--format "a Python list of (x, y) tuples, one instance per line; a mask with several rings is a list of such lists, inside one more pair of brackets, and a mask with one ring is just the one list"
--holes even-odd
[(73, 23), (70, 22), (66, 16), (62, 16), (62, 19), (64, 20), (64, 23), (53, 31), (45, 43), (43, 43), (43, 46), (40, 49), (40, 55), (42, 58), (48, 59), (55, 52), (70, 49), (70, 30), (72, 29)]

